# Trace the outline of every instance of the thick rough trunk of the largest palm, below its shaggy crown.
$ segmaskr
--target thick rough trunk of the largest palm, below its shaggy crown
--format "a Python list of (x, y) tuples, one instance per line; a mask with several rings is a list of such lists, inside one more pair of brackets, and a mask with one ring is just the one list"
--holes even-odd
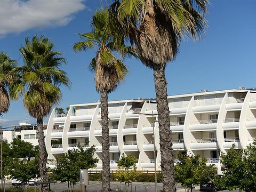
[[(156, 65), (157, 66), (157, 65)], [(172, 151), (172, 133), (170, 130), (169, 106), (167, 101), (167, 82), (165, 67), (154, 68), (156, 103), (158, 112), (159, 138), (161, 151), (161, 169), (163, 174), (163, 191), (175, 191), (174, 163)]]

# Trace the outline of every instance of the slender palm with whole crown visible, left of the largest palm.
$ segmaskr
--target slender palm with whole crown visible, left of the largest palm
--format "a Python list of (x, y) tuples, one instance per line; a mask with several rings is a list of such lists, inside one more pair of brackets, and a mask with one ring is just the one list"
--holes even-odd
[(108, 128), (108, 93), (114, 91), (124, 80), (128, 70), (122, 60), (113, 54), (119, 50), (132, 53), (131, 47), (125, 47), (123, 41), (119, 42), (118, 35), (114, 35), (113, 23), (108, 18), (108, 11), (101, 9), (95, 11), (92, 18), (92, 31), (79, 34), (81, 42), (74, 44), (75, 51), (96, 49), (89, 69), (95, 73), (94, 82), (97, 92), (100, 92), (101, 125), (102, 125), (102, 189), (110, 190), (109, 166), (109, 128)]

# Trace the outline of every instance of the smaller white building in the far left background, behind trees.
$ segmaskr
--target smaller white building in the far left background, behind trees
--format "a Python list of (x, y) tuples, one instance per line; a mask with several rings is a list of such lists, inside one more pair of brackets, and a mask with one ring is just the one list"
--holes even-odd
[[(44, 130), (44, 134), (46, 129)], [(3, 140), (11, 143), (13, 139), (18, 138), (23, 141), (30, 142), (32, 145), (38, 145), (37, 126), (27, 123), (7, 127), (3, 129)]]

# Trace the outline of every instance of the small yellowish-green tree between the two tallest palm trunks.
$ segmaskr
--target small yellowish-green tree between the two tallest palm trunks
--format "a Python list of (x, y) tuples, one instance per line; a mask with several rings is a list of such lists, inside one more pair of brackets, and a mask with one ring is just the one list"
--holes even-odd
[(132, 182), (140, 177), (141, 173), (137, 172), (136, 161), (137, 158), (132, 155), (122, 155), (121, 159), (117, 162), (118, 171), (115, 174), (119, 182), (131, 183), (132, 185)]

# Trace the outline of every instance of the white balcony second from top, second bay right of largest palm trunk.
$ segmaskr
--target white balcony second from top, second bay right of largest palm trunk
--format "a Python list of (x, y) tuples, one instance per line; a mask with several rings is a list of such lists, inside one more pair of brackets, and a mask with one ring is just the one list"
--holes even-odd
[(200, 120), (198, 122), (191, 122), (189, 128), (191, 131), (204, 131), (204, 130), (216, 130), (217, 119)]

